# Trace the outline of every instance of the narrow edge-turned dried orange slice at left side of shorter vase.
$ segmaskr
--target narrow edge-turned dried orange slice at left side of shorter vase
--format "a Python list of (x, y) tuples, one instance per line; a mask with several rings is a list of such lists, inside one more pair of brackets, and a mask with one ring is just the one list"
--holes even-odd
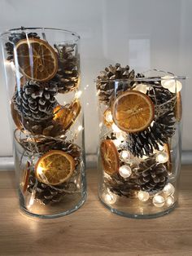
[(111, 139), (103, 139), (100, 146), (103, 169), (107, 174), (118, 173), (120, 167), (119, 154)]

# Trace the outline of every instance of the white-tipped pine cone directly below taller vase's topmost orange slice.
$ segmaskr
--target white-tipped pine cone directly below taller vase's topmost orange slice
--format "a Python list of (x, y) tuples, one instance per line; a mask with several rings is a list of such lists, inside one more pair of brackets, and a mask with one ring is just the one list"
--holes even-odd
[(28, 81), (15, 92), (13, 103), (20, 116), (30, 121), (45, 121), (53, 116), (57, 88)]

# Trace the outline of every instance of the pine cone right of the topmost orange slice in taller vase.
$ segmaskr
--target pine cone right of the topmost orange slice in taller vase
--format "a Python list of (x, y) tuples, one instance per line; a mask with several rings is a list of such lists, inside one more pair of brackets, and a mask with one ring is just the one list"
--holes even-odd
[(55, 45), (59, 55), (58, 72), (51, 82), (58, 86), (59, 93), (66, 93), (78, 86), (80, 74), (76, 47), (76, 44)]

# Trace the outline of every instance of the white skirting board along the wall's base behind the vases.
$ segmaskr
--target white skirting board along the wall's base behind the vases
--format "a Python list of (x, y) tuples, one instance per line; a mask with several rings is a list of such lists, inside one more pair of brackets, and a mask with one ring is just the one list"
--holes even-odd
[[(192, 151), (183, 151), (181, 158), (182, 165), (192, 164)], [(97, 166), (97, 155), (86, 156), (87, 168), (94, 168)], [(0, 170), (14, 170), (13, 157), (0, 157)]]

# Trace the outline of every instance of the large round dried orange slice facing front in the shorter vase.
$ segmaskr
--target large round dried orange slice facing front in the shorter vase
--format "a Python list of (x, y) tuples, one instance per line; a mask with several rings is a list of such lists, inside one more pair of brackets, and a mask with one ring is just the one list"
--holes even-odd
[(120, 130), (129, 133), (145, 130), (154, 119), (154, 104), (140, 91), (125, 91), (115, 99), (112, 115)]

